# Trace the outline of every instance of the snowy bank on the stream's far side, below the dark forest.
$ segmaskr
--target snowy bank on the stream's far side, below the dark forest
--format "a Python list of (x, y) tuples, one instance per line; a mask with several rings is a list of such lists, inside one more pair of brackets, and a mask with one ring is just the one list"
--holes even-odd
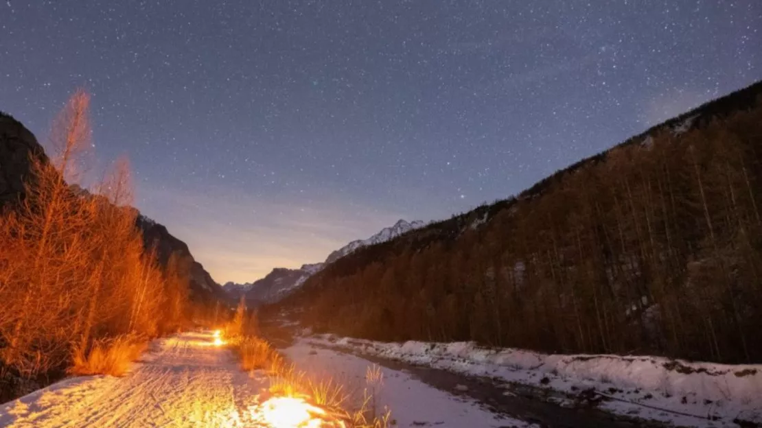
[(681, 426), (737, 426), (734, 418), (762, 423), (762, 365), (689, 363), (657, 356), (548, 355), (471, 342), (381, 343), (331, 335), (309, 340), (323, 347), (566, 394), (594, 388), (611, 398), (600, 407), (615, 414)]

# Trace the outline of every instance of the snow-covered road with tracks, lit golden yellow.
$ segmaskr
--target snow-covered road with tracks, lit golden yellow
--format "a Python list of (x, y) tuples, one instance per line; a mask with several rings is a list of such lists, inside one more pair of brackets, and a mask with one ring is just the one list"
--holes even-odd
[(242, 372), (212, 334), (180, 334), (152, 348), (122, 378), (69, 378), (2, 404), (0, 426), (250, 426), (246, 409), (267, 378)]

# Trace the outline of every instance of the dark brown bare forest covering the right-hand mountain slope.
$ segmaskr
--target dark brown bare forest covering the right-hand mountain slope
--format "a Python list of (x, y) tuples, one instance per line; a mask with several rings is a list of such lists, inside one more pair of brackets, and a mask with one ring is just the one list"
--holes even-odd
[(762, 99), (752, 99), (687, 132), (662, 126), (498, 209), (357, 251), (283, 305), (319, 331), (375, 340), (759, 363)]

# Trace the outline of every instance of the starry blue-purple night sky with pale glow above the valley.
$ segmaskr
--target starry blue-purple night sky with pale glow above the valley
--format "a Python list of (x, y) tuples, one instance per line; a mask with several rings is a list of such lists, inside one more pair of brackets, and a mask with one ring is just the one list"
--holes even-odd
[(760, 78), (760, 0), (0, 2), (0, 110), (44, 141), (90, 91), (98, 168), (128, 155), (136, 206), (219, 282), (511, 196)]

